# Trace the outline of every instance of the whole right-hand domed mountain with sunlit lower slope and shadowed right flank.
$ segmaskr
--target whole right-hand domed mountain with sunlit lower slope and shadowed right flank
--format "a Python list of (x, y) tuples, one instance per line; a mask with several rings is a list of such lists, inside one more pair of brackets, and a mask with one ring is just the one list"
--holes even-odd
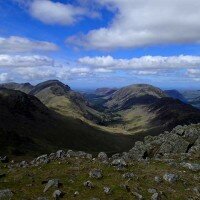
[(157, 134), (179, 124), (200, 122), (198, 109), (151, 85), (124, 87), (113, 93), (104, 106), (112, 116), (105, 125), (122, 128), (128, 134)]

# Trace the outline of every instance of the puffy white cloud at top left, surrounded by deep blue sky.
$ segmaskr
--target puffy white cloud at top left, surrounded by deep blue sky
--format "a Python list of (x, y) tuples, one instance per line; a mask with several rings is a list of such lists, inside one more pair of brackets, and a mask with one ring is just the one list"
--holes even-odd
[(97, 18), (99, 14), (85, 7), (73, 6), (50, 0), (33, 0), (29, 4), (30, 14), (46, 24), (71, 25), (82, 17)]

